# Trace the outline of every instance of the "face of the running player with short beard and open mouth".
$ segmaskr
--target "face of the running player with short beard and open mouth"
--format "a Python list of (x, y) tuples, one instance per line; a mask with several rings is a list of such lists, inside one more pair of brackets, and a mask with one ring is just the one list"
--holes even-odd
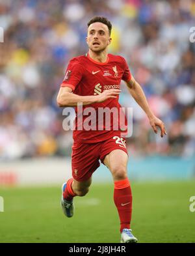
[(86, 43), (92, 51), (103, 51), (111, 42), (109, 28), (101, 22), (92, 23), (88, 27)]

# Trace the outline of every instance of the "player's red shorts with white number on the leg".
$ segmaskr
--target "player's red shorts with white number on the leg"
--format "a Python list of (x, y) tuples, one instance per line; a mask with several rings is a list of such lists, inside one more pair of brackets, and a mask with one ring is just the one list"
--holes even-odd
[[(72, 176), (77, 181), (88, 180), (107, 154), (115, 149), (127, 153), (125, 139), (114, 136), (98, 143), (73, 143), (72, 146)], [(127, 153), (128, 155), (128, 153)]]

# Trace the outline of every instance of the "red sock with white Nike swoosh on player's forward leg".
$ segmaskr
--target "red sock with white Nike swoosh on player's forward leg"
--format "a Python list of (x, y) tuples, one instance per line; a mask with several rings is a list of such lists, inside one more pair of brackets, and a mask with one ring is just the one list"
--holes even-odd
[(114, 182), (114, 203), (120, 217), (120, 232), (130, 229), (132, 194), (128, 178)]

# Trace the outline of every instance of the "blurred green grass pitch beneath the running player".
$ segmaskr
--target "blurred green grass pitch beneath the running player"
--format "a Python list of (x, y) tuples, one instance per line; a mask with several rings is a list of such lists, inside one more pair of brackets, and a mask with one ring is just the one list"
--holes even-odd
[[(59, 186), (60, 187), (60, 186)], [(195, 182), (134, 183), (131, 228), (139, 242), (195, 242), (189, 198)], [(75, 216), (60, 209), (60, 188), (1, 188), (0, 242), (120, 242), (112, 184), (92, 184), (75, 198)]]

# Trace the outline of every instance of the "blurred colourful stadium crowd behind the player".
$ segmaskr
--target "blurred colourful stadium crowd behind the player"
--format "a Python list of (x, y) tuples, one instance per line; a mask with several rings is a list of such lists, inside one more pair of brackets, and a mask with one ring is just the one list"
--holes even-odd
[(168, 133), (153, 133), (122, 84), (120, 103), (133, 107), (129, 153), (195, 155), (194, 0), (0, 0), (0, 160), (70, 156), (57, 92), (68, 61), (87, 52), (86, 23), (99, 15), (113, 25), (110, 53), (127, 59)]

